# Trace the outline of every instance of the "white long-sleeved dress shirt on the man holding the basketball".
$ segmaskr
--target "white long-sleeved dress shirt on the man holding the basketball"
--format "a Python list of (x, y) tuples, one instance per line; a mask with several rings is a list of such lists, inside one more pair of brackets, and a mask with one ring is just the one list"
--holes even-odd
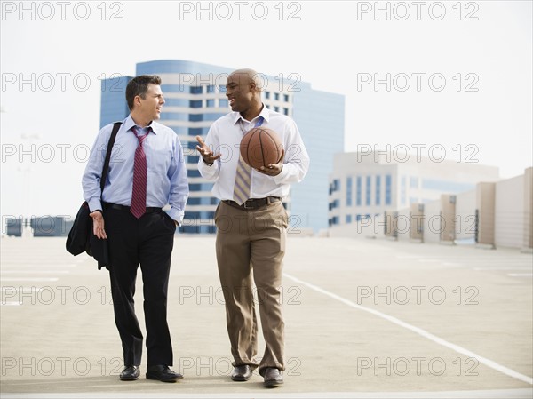
[[(255, 169), (251, 170), (251, 198), (267, 196), (286, 197), (289, 195), (290, 183), (301, 181), (309, 169), (309, 156), (298, 132), (298, 126), (278, 112), (263, 106), (259, 116), (263, 116), (262, 127), (278, 133), (285, 149), (283, 169), (277, 176), (267, 176)], [(240, 113), (230, 112), (220, 117), (213, 124), (205, 138), (205, 144), (215, 155), (221, 154), (211, 166), (198, 161), (198, 170), (203, 178), (215, 181), (213, 196), (221, 200), (234, 200), (235, 175), (239, 161), (239, 144), (243, 139), (239, 120), (243, 120), (244, 131), (248, 132), (258, 121), (259, 116), (251, 121), (243, 119)]]

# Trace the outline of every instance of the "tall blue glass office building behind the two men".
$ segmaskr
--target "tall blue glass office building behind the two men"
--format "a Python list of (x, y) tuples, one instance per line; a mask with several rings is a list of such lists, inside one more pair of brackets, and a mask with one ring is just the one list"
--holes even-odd
[[(159, 122), (179, 135), (184, 148), (190, 196), (180, 228), (183, 233), (215, 232), (213, 216), (219, 200), (211, 195), (213, 183), (204, 180), (197, 170), (195, 136), (204, 137), (212, 122), (230, 111), (225, 84), (234, 69), (187, 60), (137, 64), (136, 75), (161, 76), (165, 105)], [(290, 233), (326, 229), (328, 176), (333, 155), (344, 150), (344, 96), (315, 91), (311, 84), (282, 76), (261, 75), (261, 79), (265, 105), (296, 121), (311, 158), (306, 179), (293, 184), (285, 200), (290, 213)], [(131, 76), (117, 76), (102, 81), (100, 126), (128, 116), (125, 87), (130, 80)]]

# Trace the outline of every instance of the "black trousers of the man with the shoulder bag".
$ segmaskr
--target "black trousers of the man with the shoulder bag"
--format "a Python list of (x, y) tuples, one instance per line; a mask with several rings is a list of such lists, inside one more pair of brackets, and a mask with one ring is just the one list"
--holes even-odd
[(167, 291), (176, 226), (164, 211), (136, 219), (129, 210), (105, 207), (109, 243), (111, 295), (115, 324), (123, 346), (124, 365), (140, 365), (142, 332), (135, 315), (137, 269), (142, 271), (147, 329), (147, 365), (172, 365), (167, 323)]

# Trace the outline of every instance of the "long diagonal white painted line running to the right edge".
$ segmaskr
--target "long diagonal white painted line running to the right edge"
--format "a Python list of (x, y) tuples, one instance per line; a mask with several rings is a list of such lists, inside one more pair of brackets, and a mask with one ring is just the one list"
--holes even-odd
[(399, 325), (407, 330), (410, 330), (410, 331), (413, 331), (413, 332), (416, 332), (418, 335), (426, 338), (426, 339), (429, 339), (429, 340), (432, 340), (434, 342), (436, 342), (437, 344), (439, 345), (442, 345), (443, 347), (448, 347), (449, 349), (452, 349), (452, 350), (455, 350), (457, 353), (459, 354), (462, 354), (462, 355), (466, 355), (466, 356), (469, 356), (469, 357), (475, 357), (480, 363), (482, 364), (485, 364), (487, 367), (490, 367), (491, 369), (493, 370), (496, 370), (496, 371), (500, 371), (502, 373), (504, 373), (505, 375), (509, 376), (509, 377), (513, 377), (513, 379), (520, 379), (521, 381), (523, 382), (527, 382), (528, 384), (531, 384), (533, 385), (533, 378), (531, 377), (528, 377), (526, 375), (523, 375), (521, 374), (520, 372), (518, 371), (514, 371), (514, 370), (511, 370), (505, 366), (502, 366), (501, 364), (498, 364), (490, 359), (487, 359), (486, 357), (483, 357), (481, 355), (477, 355), (473, 352), (471, 352), (470, 350), (468, 349), (465, 349), (464, 347), (459, 347), (458, 345), (456, 344), (452, 344), (451, 342), (448, 342), (447, 340), (445, 339), (442, 339), (442, 338), (439, 338), (437, 337), (436, 335), (430, 333), (430, 332), (427, 332), (426, 330), (422, 330), (421, 328), (418, 328), (410, 323), (405, 323), (405, 322), (402, 322), (402, 320), (400, 319), (397, 319), (396, 317), (393, 317), (393, 316), (390, 316), (390, 315), (386, 315), (385, 313), (381, 313), (379, 312), (378, 310), (374, 310), (374, 309), (371, 309), (370, 307), (362, 307), (361, 305), (357, 305), (356, 303), (352, 302), (351, 300), (349, 299), (345, 299), (345, 298), (342, 298), (340, 296), (338, 296), (337, 294), (334, 294), (330, 291), (326, 291), (312, 283), (306, 283), (305, 281), (303, 280), (300, 280), (299, 278), (297, 277), (294, 277), (292, 275), (288, 275), (286, 273), (283, 273), (284, 276), (290, 278), (291, 280), (295, 281), (296, 283), (300, 283), (300, 284), (303, 284), (303, 285), (306, 285), (307, 287), (311, 288), (312, 290), (314, 291), (317, 291), (317, 292), (320, 292), (332, 299), (337, 299), (339, 302), (342, 302), (344, 303), (345, 305), (349, 306), (349, 307), (354, 307), (356, 309), (359, 309), (359, 310), (363, 310), (365, 312), (368, 312), (372, 315), (377, 315), (378, 317), (381, 317), (391, 323), (394, 323), (396, 325)]

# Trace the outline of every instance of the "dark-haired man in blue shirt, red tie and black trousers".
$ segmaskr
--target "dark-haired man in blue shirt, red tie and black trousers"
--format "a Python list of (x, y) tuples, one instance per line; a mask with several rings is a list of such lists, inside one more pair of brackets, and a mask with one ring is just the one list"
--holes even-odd
[[(130, 116), (113, 146), (107, 181), (100, 177), (113, 124), (94, 143), (83, 177), (94, 234), (109, 245), (115, 323), (123, 346), (121, 380), (139, 378), (143, 336), (133, 295), (137, 269), (143, 275), (147, 328), (147, 379), (174, 382), (167, 290), (176, 227), (188, 197), (187, 169), (178, 135), (158, 124), (164, 99), (159, 76), (137, 76), (126, 88)], [(101, 197), (100, 197), (101, 194)], [(163, 206), (170, 205), (165, 212)], [(105, 220), (105, 222), (104, 222)]]

